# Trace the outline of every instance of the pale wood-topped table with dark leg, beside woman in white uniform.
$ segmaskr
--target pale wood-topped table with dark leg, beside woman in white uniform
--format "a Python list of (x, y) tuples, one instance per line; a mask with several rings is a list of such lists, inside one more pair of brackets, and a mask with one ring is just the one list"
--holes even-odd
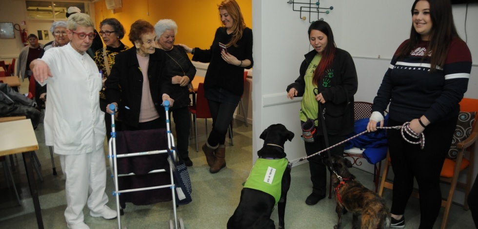
[(38, 142), (30, 119), (0, 123), (0, 156), (22, 153), (38, 228), (43, 229), (40, 201), (38, 199), (31, 158), (31, 151), (35, 150), (38, 150)]

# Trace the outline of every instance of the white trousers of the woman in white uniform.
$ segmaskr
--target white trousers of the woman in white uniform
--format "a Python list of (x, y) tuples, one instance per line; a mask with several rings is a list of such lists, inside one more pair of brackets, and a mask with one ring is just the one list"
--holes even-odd
[[(104, 150), (92, 153), (60, 155), (62, 169), (66, 174), (65, 219), (70, 225), (83, 222), (83, 208), (100, 213), (108, 202)], [(88, 197), (89, 194), (89, 197)]]

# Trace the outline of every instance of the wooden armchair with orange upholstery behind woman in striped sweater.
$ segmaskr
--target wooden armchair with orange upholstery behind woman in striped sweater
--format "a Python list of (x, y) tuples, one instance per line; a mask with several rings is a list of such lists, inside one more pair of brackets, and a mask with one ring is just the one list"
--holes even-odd
[[(478, 99), (463, 98), (460, 102), (460, 110), (462, 112), (478, 112)], [(443, 168), (441, 170), (440, 181), (442, 183), (450, 185), (447, 199), (441, 201), (441, 206), (445, 207), (445, 212), (443, 213), (443, 220), (441, 221), (441, 229), (446, 228), (446, 222), (448, 220), (448, 214), (450, 213), (450, 207), (453, 202), (453, 194), (455, 193), (456, 187), (464, 189), (465, 201), (463, 203), (463, 209), (469, 209), (468, 194), (470, 193), (471, 186), (473, 185), (473, 168), (475, 161), (475, 152), (477, 150), (476, 142), (478, 139), (477, 119), (478, 115), (475, 116), (475, 123), (470, 136), (457, 144), (457, 158), (455, 160), (446, 158), (443, 164)], [(469, 159), (463, 157), (465, 152), (469, 153)], [(391, 165), (392, 162), (390, 161), (390, 155), (387, 154), (387, 160), (385, 162), (385, 168), (383, 170), (380, 188), (378, 189), (378, 195), (380, 196), (383, 194), (384, 188), (393, 189), (393, 181), (387, 180), (388, 171), (390, 170)], [(468, 168), (466, 182), (458, 182), (459, 173), (465, 168)], [(414, 191), (413, 195), (418, 196), (418, 193)]]

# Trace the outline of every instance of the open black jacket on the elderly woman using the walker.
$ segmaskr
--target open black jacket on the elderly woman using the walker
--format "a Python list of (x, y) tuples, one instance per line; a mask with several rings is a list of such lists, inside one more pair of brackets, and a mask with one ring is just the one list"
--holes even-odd
[[(149, 56), (148, 77), (151, 97), (159, 115), (164, 118), (164, 108), (161, 106), (161, 95), (169, 95), (169, 86), (164, 83), (163, 69), (166, 54), (161, 49), (156, 49)], [(169, 58), (169, 57), (168, 57)], [(111, 68), (105, 85), (105, 95), (108, 104), (118, 103), (119, 119), (124, 123), (137, 127), (139, 123), (139, 109), (143, 87), (143, 75), (139, 70), (136, 48), (133, 47), (120, 52), (115, 57), (115, 64)], [(126, 108), (128, 107), (128, 108)]]

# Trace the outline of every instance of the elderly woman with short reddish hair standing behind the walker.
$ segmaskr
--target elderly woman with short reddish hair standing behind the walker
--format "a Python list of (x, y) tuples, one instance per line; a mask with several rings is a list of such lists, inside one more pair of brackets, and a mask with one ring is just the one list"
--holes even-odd
[[(133, 48), (115, 57), (111, 74), (105, 81), (108, 104), (115, 104), (123, 131), (165, 128), (161, 103), (173, 104), (169, 85), (163, 83), (166, 54), (155, 47), (156, 34), (151, 23), (139, 19), (131, 25), (129, 40)], [(106, 112), (113, 111), (106, 108)]]

